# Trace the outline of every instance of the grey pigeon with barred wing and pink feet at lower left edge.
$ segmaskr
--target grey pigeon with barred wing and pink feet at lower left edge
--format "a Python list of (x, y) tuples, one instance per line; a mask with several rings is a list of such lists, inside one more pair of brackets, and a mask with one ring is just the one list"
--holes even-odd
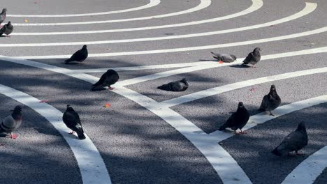
[(17, 135), (13, 134), (13, 131), (22, 124), (22, 107), (17, 105), (12, 111), (13, 113), (1, 122), (0, 133), (10, 134), (11, 139), (16, 139)]

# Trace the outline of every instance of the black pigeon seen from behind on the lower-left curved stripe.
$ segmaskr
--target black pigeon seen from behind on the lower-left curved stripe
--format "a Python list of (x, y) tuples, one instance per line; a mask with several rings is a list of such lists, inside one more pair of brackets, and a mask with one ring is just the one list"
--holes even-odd
[(64, 121), (65, 125), (73, 130), (70, 134), (73, 135), (74, 132), (78, 134), (78, 138), (85, 139), (84, 130), (82, 128), (82, 123), (80, 123), (80, 116), (78, 116), (77, 112), (74, 111), (71, 105), (67, 105), (66, 112), (62, 116), (62, 121)]

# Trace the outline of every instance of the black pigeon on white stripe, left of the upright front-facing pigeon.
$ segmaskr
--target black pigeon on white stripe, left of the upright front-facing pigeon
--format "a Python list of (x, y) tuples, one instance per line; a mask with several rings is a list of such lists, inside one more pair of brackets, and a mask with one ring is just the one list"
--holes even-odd
[[(242, 128), (247, 124), (247, 121), (249, 121), (249, 112), (247, 112), (243, 102), (238, 102), (238, 109), (236, 112), (234, 112), (218, 130), (222, 131), (226, 128), (231, 128), (231, 130), (234, 130), (235, 134), (246, 134), (246, 132), (242, 131)], [(236, 132), (238, 129), (240, 129), (240, 132)]]

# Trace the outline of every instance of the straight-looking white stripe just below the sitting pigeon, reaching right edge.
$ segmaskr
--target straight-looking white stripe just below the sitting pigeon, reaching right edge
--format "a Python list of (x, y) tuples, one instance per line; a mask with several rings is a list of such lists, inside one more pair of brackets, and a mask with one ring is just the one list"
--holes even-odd
[(184, 95), (184, 96), (181, 96), (178, 98), (173, 98), (171, 100), (166, 100), (164, 102), (161, 102), (161, 104), (165, 105), (165, 106), (167, 105), (168, 107), (173, 107), (175, 105), (180, 105), (180, 104), (183, 104), (186, 102), (191, 102), (191, 101), (198, 100), (201, 98), (206, 98), (206, 97), (209, 97), (212, 95), (225, 93), (227, 91), (232, 91), (235, 89), (245, 88), (247, 86), (253, 86), (256, 84), (263, 84), (266, 82), (273, 82), (273, 81), (282, 80), (282, 79), (289, 79), (289, 78), (293, 78), (293, 77), (319, 74), (319, 73), (323, 73), (323, 72), (327, 72), (327, 67), (315, 68), (315, 69), (310, 69), (310, 70), (300, 70), (300, 71), (296, 71), (296, 72), (287, 72), (287, 73), (283, 73), (283, 74), (279, 74), (279, 75), (271, 75), (271, 76), (261, 77), (261, 78), (257, 78), (257, 79), (249, 79), (249, 80), (242, 81), (242, 82), (235, 82), (233, 84), (227, 84), (225, 86), (219, 86), (219, 87), (215, 87), (212, 89), (198, 91), (196, 93), (191, 93), (189, 95)]

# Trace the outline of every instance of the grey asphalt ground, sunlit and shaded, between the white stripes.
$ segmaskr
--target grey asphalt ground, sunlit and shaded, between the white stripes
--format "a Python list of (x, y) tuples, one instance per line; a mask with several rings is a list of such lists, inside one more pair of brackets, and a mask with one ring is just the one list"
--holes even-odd
[[(10, 14), (74, 14), (98, 13), (143, 6), (149, 1), (6, 1), (0, 8), (7, 8)], [(263, 7), (253, 13), (230, 20), (179, 26), (167, 29), (146, 31), (124, 31), (117, 33), (95, 33), (59, 36), (11, 36), (0, 37), (1, 44), (9, 43), (61, 43), (101, 40), (121, 40), (148, 38), (169, 35), (182, 35), (233, 29), (242, 26), (262, 24), (298, 13), (306, 1), (263, 0)], [(326, 25), (327, 2), (311, 0), (317, 9), (296, 20), (267, 26), (260, 29), (224, 33), (213, 36), (156, 40), (147, 42), (88, 45), (89, 54), (107, 52), (129, 52), (153, 49), (171, 49), (235, 43), (246, 40), (272, 38), (319, 29)], [(128, 13), (87, 17), (7, 17), (13, 23), (38, 22), (86, 22), (98, 20), (119, 20), (175, 13), (194, 8), (199, 0), (162, 0), (158, 6)], [(68, 26), (15, 26), (15, 32), (90, 31), (103, 29), (127, 29), (143, 26), (160, 26), (206, 20), (232, 13), (238, 13), (251, 6), (250, 0), (215, 0), (203, 10), (194, 13), (164, 17), (152, 20), (116, 22), (108, 24), (82, 24)], [(19, 5), (19, 6), (17, 6)], [(168, 63), (189, 63), (211, 60), (213, 52), (235, 54), (245, 57), (254, 47), (261, 47), (261, 55), (293, 52), (327, 46), (324, 39), (327, 32), (255, 45), (203, 49), (191, 52), (166, 54), (141, 54), (133, 56), (90, 57), (81, 65), (64, 65), (64, 59), (38, 59), (68, 69), (113, 68), (122, 66), (145, 66)], [(73, 54), (81, 45), (50, 47), (0, 47), (0, 55), (38, 56)], [(234, 82), (256, 79), (285, 72), (326, 67), (326, 53), (291, 56), (282, 59), (260, 61), (257, 68), (233, 66), (198, 70), (195, 72), (163, 77), (127, 86), (133, 91), (147, 95), (158, 102), (182, 95), (224, 86)], [(217, 63), (218, 64), (218, 63)], [(80, 114), (83, 128), (92, 139), (107, 166), (112, 183), (222, 183), (216, 171), (191, 142), (158, 116), (152, 114), (136, 102), (111, 91), (90, 91), (92, 84), (80, 79), (19, 64), (0, 61), (0, 84), (23, 91), (64, 112), (70, 104)], [(119, 72), (121, 80), (173, 69), (136, 70)], [(100, 77), (102, 72), (90, 73)], [(180, 93), (161, 91), (160, 84), (187, 78), (189, 89)], [(238, 89), (202, 98), (193, 102), (171, 107), (203, 131), (210, 133), (219, 128), (230, 112), (235, 111), (239, 101), (244, 102), (251, 115), (259, 113), (261, 99), (275, 84), (282, 98), (282, 105), (299, 100), (326, 95), (327, 74), (294, 77), (275, 82)], [(115, 86), (115, 85), (113, 85)], [(250, 91), (249, 89), (253, 89)], [(0, 95), (0, 118), (19, 104)], [(110, 103), (110, 108), (103, 105)], [(308, 107), (298, 112), (286, 114), (272, 121), (247, 130), (247, 135), (234, 136), (221, 142), (221, 145), (240, 164), (252, 183), (281, 183), (284, 178), (309, 155), (327, 146), (327, 104)], [(309, 145), (303, 149), (305, 155), (276, 158), (270, 151), (289, 132), (296, 129), (300, 120), (307, 122)], [(0, 138), (0, 183), (82, 183), (77, 162), (64, 138), (40, 114), (29, 107), (23, 108), (23, 123), (17, 130), (16, 140)], [(327, 171), (314, 183), (327, 183)]]

